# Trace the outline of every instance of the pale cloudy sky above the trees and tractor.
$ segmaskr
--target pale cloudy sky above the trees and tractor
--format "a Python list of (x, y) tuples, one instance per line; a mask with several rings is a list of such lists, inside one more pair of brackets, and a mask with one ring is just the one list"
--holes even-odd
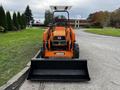
[(90, 13), (96, 11), (113, 11), (120, 8), (120, 0), (0, 0), (0, 5), (6, 11), (25, 11), (27, 5), (30, 6), (33, 17), (44, 21), (45, 10), (51, 5), (72, 6), (70, 17), (73, 19), (87, 18)]

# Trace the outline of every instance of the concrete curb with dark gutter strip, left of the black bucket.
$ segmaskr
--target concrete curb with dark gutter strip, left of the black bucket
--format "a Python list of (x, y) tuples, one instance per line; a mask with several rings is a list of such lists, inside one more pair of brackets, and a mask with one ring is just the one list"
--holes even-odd
[(0, 87), (0, 90), (19, 90), (19, 87), (26, 79), (30, 67), (30, 62), (17, 75), (13, 76), (6, 84)]

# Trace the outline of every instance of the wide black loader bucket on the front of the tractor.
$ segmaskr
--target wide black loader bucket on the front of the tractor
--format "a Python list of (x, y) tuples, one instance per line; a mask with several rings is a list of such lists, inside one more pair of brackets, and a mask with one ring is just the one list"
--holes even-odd
[(28, 80), (89, 81), (86, 60), (32, 60)]

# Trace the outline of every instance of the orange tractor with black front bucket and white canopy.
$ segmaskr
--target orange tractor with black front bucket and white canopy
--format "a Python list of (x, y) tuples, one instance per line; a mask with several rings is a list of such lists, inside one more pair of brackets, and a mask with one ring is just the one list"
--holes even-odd
[[(79, 59), (79, 45), (70, 26), (71, 6), (51, 6), (53, 22), (43, 34), (43, 46), (31, 60), (29, 80), (89, 81), (87, 60)], [(55, 13), (66, 13), (67, 18)]]

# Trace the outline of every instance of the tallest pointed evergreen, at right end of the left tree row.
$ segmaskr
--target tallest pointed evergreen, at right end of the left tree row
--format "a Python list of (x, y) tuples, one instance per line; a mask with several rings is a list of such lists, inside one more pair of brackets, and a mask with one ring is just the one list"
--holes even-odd
[(25, 15), (25, 17), (26, 17), (26, 23), (29, 24), (29, 22), (30, 22), (31, 20), (33, 20), (32, 11), (31, 11), (29, 5), (26, 7), (26, 10), (25, 10), (25, 12), (24, 12), (24, 15)]

